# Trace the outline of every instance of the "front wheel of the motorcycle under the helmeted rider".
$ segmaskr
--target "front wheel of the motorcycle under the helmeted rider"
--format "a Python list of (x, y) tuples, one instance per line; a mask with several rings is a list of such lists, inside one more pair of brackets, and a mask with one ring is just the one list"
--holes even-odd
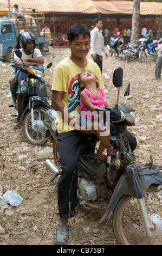
[(33, 145), (43, 145), (48, 141), (45, 137), (47, 128), (44, 126), (43, 121), (45, 113), (48, 109), (42, 106), (34, 108), (34, 124), (35, 129), (31, 127), (31, 112), (28, 111), (23, 120), (23, 133), (25, 139)]

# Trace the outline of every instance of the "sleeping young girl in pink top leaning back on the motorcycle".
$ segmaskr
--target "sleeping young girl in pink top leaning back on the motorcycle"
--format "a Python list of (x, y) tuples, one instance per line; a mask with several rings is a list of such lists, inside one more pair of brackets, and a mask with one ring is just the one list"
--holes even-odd
[(103, 89), (98, 86), (98, 83), (98, 78), (96, 78), (90, 70), (83, 71), (79, 76), (79, 85), (81, 88), (80, 125), (96, 131), (96, 135), (100, 139), (96, 160), (105, 162), (107, 157), (102, 155), (102, 153), (105, 148), (108, 150), (108, 154), (112, 153), (112, 145), (109, 143), (111, 135), (103, 136), (103, 132), (106, 131), (107, 128), (99, 123), (98, 117), (95, 119), (95, 113), (92, 112), (95, 111), (96, 108), (103, 109), (104, 107), (113, 107), (113, 105), (107, 102), (106, 95), (103, 93)]

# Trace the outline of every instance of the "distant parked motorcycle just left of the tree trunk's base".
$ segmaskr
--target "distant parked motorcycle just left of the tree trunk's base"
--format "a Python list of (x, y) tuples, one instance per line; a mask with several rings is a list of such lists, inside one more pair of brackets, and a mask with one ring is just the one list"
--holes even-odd
[(121, 36), (118, 36), (118, 38), (114, 40), (113, 39), (114, 38), (111, 38), (111, 45), (110, 46), (107, 45), (109, 56), (112, 57), (114, 53), (114, 56), (116, 59), (121, 58), (127, 61), (128, 50), (127, 50), (126, 44), (124, 44), (124, 38), (122, 38), (122, 35), (121, 35)]

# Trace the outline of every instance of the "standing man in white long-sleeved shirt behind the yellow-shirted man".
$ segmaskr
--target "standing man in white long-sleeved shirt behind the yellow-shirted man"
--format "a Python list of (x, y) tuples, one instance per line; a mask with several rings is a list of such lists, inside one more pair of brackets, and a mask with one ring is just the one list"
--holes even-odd
[(94, 20), (95, 28), (90, 32), (90, 47), (91, 51), (90, 54), (96, 64), (98, 64), (101, 73), (102, 73), (102, 51), (105, 52), (106, 58), (108, 54), (106, 49), (103, 45), (103, 38), (102, 38), (102, 27), (103, 23), (100, 18), (96, 18)]

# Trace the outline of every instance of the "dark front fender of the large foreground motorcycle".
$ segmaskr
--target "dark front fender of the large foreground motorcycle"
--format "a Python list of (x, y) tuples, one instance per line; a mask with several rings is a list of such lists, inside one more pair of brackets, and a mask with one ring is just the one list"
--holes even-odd
[(105, 221), (112, 214), (122, 196), (128, 194), (133, 198), (143, 198), (147, 188), (152, 184), (162, 184), (162, 172), (157, 172), (149, 164), (134, 163), (127, 166), (126, 173), (119, 179), (105, 215), (99, 223)]

